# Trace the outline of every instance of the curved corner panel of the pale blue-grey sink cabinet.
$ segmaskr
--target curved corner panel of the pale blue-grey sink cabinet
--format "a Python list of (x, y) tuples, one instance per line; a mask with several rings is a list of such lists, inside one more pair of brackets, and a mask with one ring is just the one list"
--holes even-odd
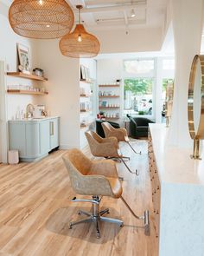
[(26, 157), (40, 156), (39, 123), (26, 124)]

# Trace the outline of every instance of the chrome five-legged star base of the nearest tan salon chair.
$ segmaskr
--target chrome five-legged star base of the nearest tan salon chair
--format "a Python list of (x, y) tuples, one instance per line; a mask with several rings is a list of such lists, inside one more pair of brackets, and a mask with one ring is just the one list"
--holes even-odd
[[(79, 214), (84, 214), (88, 218), (83, 219), (83, 220), (77, 220), (69, 223), (69, 228), (71, 229), (73, 226), (81, 224), (81, 223), (88, 223), (88, 222), (94, 222), (96, 226), (96, 237), (99, 239), (100, 238), (100, 226), (99, 222), (100, 221), (105, 221), (105, 222), (111, 222), (118, 224), (118, 226), (124, 226), (124, 222), (122, 220), (117, 220), (117, 219), (112, 219), (112, 218), (107, 218), (103, 217), (105, 213), (109, 213), (109, 209), (106, 208), (105, 210), (99, 211), (99, 202), (100, 202), (100, 197), (99, 196), (92, 196), (92, 213), (88, 213), (85, 211), (79, 211)], [(76, 200), (72, 200), (76, 201)], [(80, 201), (80, 200), (77, 200)], [(84, 200), (82, 200), (84, 201)], [(95, 201), (95, 202), (93, 202)]]

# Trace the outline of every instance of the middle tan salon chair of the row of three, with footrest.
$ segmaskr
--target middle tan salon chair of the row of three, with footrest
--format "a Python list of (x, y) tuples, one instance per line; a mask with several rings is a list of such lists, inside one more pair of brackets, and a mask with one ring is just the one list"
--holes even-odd
[(98, 134), (93, 131), (85, 133), (92, 155), (98, 157), (105, 157), (109, 159), (118, 159), (124, 163), (124, 166), (128, 169), (131, 174), (139, 174), (138, 169), (136, 172), (132, 172), (130, 167), (125, 163), (124, 159), (129, 159), (122, 155), (118, 148), (118, 140), (116, 137), (101, 138)]

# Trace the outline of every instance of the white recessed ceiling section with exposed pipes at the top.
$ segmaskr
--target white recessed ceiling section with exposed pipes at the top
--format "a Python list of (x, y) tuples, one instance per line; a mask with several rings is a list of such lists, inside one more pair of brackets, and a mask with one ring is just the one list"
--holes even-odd
[[(78, 22), (77, 4), (83, 5), (81, 19), (89, 30), (119, 30), (163, 27), (169, 0), (67, 0)], [(135, 16), (131, 17), (132, 11)]]

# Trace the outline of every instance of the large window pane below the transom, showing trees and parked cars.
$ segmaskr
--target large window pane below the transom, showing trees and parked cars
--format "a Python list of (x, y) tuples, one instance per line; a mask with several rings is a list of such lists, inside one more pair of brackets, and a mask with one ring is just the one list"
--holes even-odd
[(124, 79), (124, 114), (152, 115), (153, 78)]

